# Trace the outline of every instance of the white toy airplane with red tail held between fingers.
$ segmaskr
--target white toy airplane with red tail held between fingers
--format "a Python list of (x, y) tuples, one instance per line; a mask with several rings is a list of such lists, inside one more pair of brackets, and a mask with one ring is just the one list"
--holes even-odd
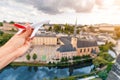
[[(35, 23), (35, 24), (32, 24), (31, 27), (34, 29), (30, 38), (34, 37), (35, 34), (37, 33), (37, 31), (43, 26), (43, 24), (48, 24), (50, 21), (47, 20), (47, 21), (42, 21), (42, 22), (39, 22), (39, 23)], [(20, 25), (20, 24), (14, 24), (14, 26), (16, 26), (19, 31), (17, 34), (20, 34), (23, 30), (26, 29), (26, 26), (23, 26), (23, 25)]]

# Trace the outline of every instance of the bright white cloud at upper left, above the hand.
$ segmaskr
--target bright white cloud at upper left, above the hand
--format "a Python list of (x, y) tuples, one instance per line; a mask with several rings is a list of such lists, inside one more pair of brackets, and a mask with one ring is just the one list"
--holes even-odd
[(0, 21), (33, 21), (40, 20), (44, 14), (31, 5), (25, 5), (14, 0), (0, 1)]

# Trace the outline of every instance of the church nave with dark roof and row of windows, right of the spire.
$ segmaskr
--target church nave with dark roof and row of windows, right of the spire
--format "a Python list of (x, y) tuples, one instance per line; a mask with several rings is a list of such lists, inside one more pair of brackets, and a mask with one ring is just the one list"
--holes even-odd
[(77, 41), (77, 55), (91, 55), (96, 56), (99, 52), (99, 48), (97, 46), (96, 41), (88, 41), (88, 40), (78, 40)]

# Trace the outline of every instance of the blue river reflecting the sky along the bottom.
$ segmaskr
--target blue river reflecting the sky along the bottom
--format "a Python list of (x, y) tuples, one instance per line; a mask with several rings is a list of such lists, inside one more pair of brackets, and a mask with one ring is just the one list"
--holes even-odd
[(93, 68), (93, 65), (82, 68), (6, 67), (0, 71), (0, 80), (53, 80), (55, 77), (64, 78), (70, 75), (88, 74)]

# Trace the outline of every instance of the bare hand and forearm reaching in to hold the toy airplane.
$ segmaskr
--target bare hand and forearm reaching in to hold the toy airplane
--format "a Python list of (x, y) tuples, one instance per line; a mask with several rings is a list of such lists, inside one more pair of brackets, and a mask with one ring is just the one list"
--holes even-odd
[(27, 27), (20, 34), (15, 34), (3, 47), (0, 48), (0, 69), (8, 65), (17, 57), (24, 55), (29, 49), (31, 39), (29, 38), (33, 29)]

